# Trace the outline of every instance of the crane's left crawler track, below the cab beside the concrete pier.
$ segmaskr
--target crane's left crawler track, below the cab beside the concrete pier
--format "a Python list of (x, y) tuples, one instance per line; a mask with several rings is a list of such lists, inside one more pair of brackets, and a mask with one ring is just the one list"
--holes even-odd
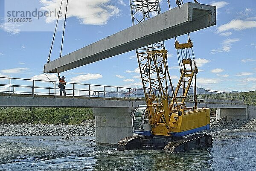
[(138, 148), (142, 148), (142, 142), (141, 139), (145, 139), (149, 136), (143, 136), (143, 135), (134, 135), (134, 136), (128, 136), (124, 139), (121, 139), (117, 144), (117, 150), (118, 151), (125, 151), (125, 150), (134, 150)]

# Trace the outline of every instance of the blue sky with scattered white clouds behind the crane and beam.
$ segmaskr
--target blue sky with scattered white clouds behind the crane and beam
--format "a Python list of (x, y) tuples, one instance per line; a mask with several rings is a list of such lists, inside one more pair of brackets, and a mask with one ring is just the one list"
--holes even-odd
[[(59, 0), (35, 2), (39, 7), (59, 8), (59, 3), (56, 3)], [(198, 2), (218, 7), (216, 26), (190, 34), (200, 70), (198, 87), (225, 92), (256, 90), (256, 1)], [(168, 10), (166, 0), (161, 1), (160, 6), (162, 12)], [(175, 0), (171, 0), (171, 6), (176, 6)], [(128, 0), (80, 0), (73, 1), (73, 4), (70, 1), (63, 55), (130, 27), (130, 13)], [(4, 14), (4, 0), (0, 0), (0, 76), (46, 80), (42, 73), (49, 55), (55, 18), (44, 20), (45, 23), (52, 23), (48, 28), (51, 32), (25, 32), (19, 26), (5, 25)], [(57, 32), (51, 60), (59, 56), (61, 34)], [(180, 42), (186, 40), (187, 35), (178, 37)], [(174, 39), (165, 41), (170, 74), (175, 85), (180, 73), (176, 68), (174, 43)], [(135, 55), (135, 51), (127, 52), (61, 75), (68, 82), (141, 87)], [(57, 79), (56, 74), (48, 75), (52, 80)]]

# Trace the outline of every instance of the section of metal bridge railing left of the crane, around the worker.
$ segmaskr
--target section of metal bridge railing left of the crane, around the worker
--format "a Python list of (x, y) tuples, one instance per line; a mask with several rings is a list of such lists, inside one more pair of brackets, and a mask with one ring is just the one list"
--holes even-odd
[[(9, 94), (30, 94), (59, 96), (60, 89), (58, 81), (45, 81), (24, 78), (7, 78), (0, 77), (0, 92)], [(114, 98), (114, 99), (129, 99), (131, 100), (131, 88), (116, 87), (96, 84), (69, 83), (65, 86), (66, 96), (71, 97), (99, 97), (99, 98)]]

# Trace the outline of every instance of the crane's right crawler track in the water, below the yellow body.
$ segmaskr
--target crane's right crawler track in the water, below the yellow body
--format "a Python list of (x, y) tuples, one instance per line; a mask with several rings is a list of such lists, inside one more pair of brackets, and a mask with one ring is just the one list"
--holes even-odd
[(180, 140), (170, 142), (163, 149), (165, 152), (175, 153), (212, 144), (212, 136), (209, 134), (195, 134)]

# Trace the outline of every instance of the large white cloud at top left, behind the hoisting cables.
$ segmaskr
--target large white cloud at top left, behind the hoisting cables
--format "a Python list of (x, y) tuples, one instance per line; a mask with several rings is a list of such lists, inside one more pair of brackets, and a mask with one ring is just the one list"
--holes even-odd
[[(42, 10), (54, 11), (59, 9), (61, 0), (40, 0)], [(65, 2), (65, 0), (64, 0)], [(76, 17), (83, 24), (104, 25), (110, 17), (119, 15), (120, 10), (110, 5), (110, 0), (72, 0), (68, 5), (67, 17)], [(64, 3), (65, 4), (65, 3)], [(65, 5), (64, 5), (65, 6)], [(61, 19), (64, 18), (65, 9), (62, 8)], [(46, 23), (52, 23), (58, 16), (47, 17)]]

